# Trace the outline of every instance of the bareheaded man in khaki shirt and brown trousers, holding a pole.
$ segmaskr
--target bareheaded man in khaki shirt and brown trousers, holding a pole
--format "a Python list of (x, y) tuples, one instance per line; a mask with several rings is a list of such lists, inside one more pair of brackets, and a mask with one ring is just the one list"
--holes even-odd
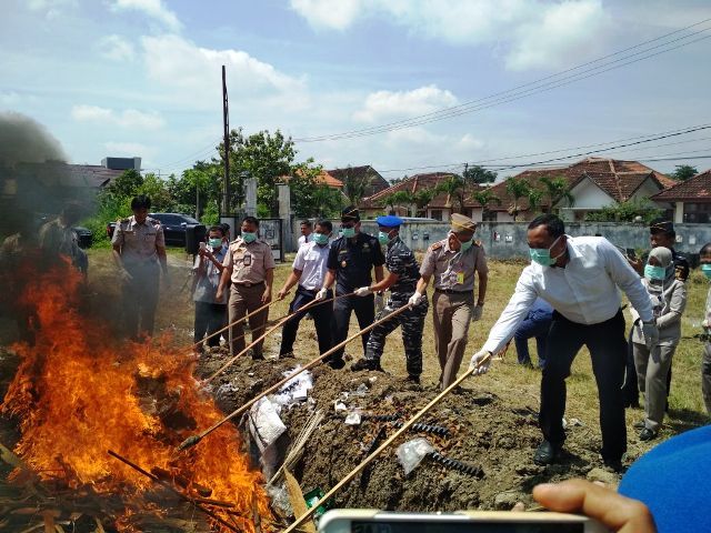
[[(271, 247), (264, 241), (257, 240), (259, 220), (247, 217), (242, 221), (241, 234), (230, 243), (224, 257), (222, 278), (218, 286), (217, 300), (222, 298), (230, 280), (232, 286), (229, 298), (229, 323), (242, 319), (247, 313), (271, 301), (271, 288), (274, 282), (274, 258)], [(269, 309), (249, 318), (252, 340), (264, 333)], [(240, 322), (230, 328), (230, 354), (236, 355), (244, 350), (244, 329)], [(262, 344), (259, 342), (252, 349), (252, 359), (264, 359)]]

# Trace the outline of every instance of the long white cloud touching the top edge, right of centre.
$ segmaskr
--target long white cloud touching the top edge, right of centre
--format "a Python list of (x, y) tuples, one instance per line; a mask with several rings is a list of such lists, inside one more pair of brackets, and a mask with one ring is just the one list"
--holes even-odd
[(382, 18), (452, 46), (501, 46), (514, 70), (590, 57), (590, 43), (610, 22), (602, 0), (291, 0), (291, 8), (314, 28), (344, 30)]

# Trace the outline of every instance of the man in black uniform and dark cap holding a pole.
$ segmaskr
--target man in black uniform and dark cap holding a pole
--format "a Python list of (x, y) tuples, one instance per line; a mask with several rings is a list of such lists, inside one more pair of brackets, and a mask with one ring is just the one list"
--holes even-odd
[[(359, 286), (370, 285), (370, 271), (374, 270), (375, 281), (383, 279), (382, 265), (385, 258), (378, 239), (360, 231), (360, 214), (353, 205), (341, 212), (342, 237), (333, 241), (327, 262), (328, 272), (323, 288), (317, 293), (318, 300), (327, 298), (328, 290), (336, 282), (336, 295), (349, 294)], [(382, 298), (382, 296), (380, 296)], [(333, 344), (348, 336), (351, 312), (356, 311), (361, 330), (373, 323), (375, 311), (372, 294), (362, 298), (340, 298), (333, 304)], [(362, 335), (363, 351), (368, 345), (368, 334)], [(333, 353), (327, 363), (333, 369), (342, 369), (343, 349)]]

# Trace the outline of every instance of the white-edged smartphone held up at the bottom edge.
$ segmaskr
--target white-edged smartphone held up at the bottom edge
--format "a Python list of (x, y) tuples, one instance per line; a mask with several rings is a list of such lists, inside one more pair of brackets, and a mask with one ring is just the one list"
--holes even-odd
[(459, 511), (390, 513), (367, 509), (328, 511), (320, 533), (610, 533), (599, 522), (563, 513)]

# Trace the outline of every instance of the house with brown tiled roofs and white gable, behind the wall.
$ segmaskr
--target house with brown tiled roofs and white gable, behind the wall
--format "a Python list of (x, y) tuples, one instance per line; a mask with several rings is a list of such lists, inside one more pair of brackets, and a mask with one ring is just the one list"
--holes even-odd
[[(573, 198), (551, 199), (545, 194), (541, 178), (561, 178), (568, 183), (568, 192)], [(567, 167), (527, 170), (513, 178), (527, 181), (532, 189), (543, 191), (537, 209), (532, 210), (527, 197), (518, 199), (518, 221), (531, 220), (539, 212), (559, 211), (567, 221), (582, 221), (585, 214), (628, 200), (649, 199), (675, 183), (667, 175), (637, 161), (621, 161), (605, 158), (587, 158)], [(501, 202), (488, 205), (487, 220), (512, 221), (514, 199), (507, 191), (507, 182), (491, 188)], [(553, 205), (551, 205), (553, 200)], [(668, 205), (662, 205), (668, 208)]]

